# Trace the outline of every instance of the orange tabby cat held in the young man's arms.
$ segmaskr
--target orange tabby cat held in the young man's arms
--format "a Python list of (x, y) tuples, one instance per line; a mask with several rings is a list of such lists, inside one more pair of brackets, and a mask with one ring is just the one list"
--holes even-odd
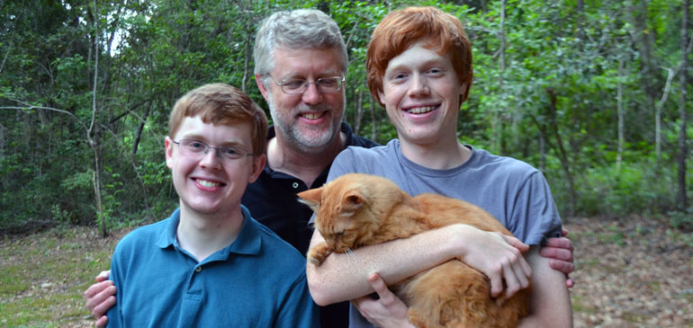
[[(482, 208), (435, 194), (411, 197), (394, 182), (374, 175), (345, 174), (298, 196), (315, 212), (315, 227), (325, 238), (325, 243), (308, 251), (308, 261), (314, 265), (332, 252), (345, 253), (456, 223), (511, 235)], [(457, 260), (391, 288), (410, 306), (410, 322), (419, 327), (514, 327), (528, 312), (529, 288), (500, 306), (490, 297), (489, 279)]]

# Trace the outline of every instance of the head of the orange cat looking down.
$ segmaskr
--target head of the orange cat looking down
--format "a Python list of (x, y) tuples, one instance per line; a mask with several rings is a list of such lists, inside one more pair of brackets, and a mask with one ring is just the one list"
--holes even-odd
[(315, 228), (329, 247), (344, 253), (373, 235), (383, 213), (396, 202), (392, 195), (400, 194), (387, 179), (349, 173), (298, 196), (315, 212)]

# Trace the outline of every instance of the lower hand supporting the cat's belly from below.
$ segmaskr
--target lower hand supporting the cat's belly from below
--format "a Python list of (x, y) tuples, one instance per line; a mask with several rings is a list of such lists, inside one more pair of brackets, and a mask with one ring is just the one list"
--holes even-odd
[(351, 304), (358, 309), (361, 315), (364, 315), (368, 322), (383, 328), (414, 326), (407, 319), (409, 307), (399, 297), (392, 294), (379, 274), (371, 275), (368, 282), (380, 298), (374, 299), (370, 295), (366, 295), (351, 300)]

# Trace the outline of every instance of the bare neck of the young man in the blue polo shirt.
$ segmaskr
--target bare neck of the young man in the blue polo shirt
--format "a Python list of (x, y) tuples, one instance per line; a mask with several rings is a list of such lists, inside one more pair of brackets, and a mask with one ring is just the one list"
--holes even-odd
[(178, 244), (195, 260), (202, 260), (232, 244), (243, 226), (240, 207), (221, 215), (206, 215), (181, 204), (181, 219), (176, 236)]

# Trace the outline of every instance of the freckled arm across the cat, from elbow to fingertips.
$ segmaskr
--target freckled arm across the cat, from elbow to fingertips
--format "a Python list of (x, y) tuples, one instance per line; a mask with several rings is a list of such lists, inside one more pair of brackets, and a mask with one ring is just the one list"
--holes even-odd
[[(322, 241), (316, 230), (311, 247)], [(514, 237), (453, 225), (361, 247), (353, 253), (332, 253), (320, 266), (307, 265), (306, 273), (311, 296), (325, 306), (372, 293), (369, 277), (374, 272), (392, 284), (456, 258), (489, 276), (493, 296), (500, 294), (505, 279), (507, 295), (511, 296), (527, 287), (531, 269), (520, 254), (527, 249)]]

